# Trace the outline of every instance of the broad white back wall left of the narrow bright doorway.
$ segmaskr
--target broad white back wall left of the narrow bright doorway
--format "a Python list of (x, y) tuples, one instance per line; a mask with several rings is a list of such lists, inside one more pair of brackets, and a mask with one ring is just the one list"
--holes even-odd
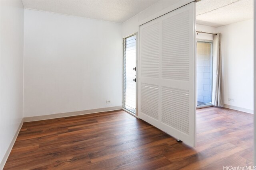
[(24, 18), (24, 117), (122, 106), (121, 24), (27, 9)]

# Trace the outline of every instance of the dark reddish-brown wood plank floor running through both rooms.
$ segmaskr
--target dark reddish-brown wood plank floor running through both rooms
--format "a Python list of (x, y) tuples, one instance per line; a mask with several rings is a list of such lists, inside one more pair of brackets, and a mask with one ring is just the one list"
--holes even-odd
[(253, 115), (197, 110), (197, 147), (119, 110), (24, 123), (4, 170), (223, 169), (253, 164)]

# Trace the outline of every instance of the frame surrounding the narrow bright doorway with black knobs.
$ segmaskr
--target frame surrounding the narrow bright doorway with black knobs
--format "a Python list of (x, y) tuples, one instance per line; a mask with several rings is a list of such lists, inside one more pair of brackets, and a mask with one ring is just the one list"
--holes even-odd
[[(136, 47), (135, 47), (135, 49), (136, 49), (136, 71), (135, 71), (135, 74), (136, 74), (136, 111), (135, 111), (135, 114), (133, 113), (133, 112), (131, 112), (131, 111), (129, 111), (128, 109), (126, 109), (126, 108), (124, 108), (124, 101), (125, 101), (125, 99), (124, 99), (124, 97), (125, 97), (125, 94), (124, 94), (124, 85), (125, 85), (125, 80), (124, 80), (124, 78), (125, 78), (125, 39), (126, 38), (128, 38), (128, 37), (131, 37), (131, 36), (134, 36), (135, 35), (135, 37), (136, 37)], [(124, 110), (124, 111), (126, 111), (127, 113), (129, 113), (129, 114), (131, 114), (131, 115), (133, 115), (133, 116), (135, 116), (136, 118), (138, 118), (139, 119), (139, 117), (138, 117), (138, 80), (139, 80), (139, 63), (138, 63), (138, 53), (139, 52), (139, 32), (136, 32), (136, 33), (133, 33), (133, 34), (131, 34), (131, 35), (128, 35), (128, 36), (126, 36), (126, 37), (124, 37), (123, 38), (123, 92), (122, 92), (122, 94), (123, 94), (123, 100), (122, 100), (122, 109)]]

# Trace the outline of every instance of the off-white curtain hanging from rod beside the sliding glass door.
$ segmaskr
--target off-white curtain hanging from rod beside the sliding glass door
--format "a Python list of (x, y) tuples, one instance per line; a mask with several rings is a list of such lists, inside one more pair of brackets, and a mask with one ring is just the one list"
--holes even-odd
[(221, 89), (221, 33), (213, 35), (213, 57), (212, 57), (212, 105), (223, 106)]

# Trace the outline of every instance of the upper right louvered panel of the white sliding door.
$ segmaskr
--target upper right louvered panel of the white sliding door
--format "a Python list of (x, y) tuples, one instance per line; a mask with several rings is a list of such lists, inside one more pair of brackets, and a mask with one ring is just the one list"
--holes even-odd
[(162, 78), (189, 78), (189, 12), (162, 21)]

